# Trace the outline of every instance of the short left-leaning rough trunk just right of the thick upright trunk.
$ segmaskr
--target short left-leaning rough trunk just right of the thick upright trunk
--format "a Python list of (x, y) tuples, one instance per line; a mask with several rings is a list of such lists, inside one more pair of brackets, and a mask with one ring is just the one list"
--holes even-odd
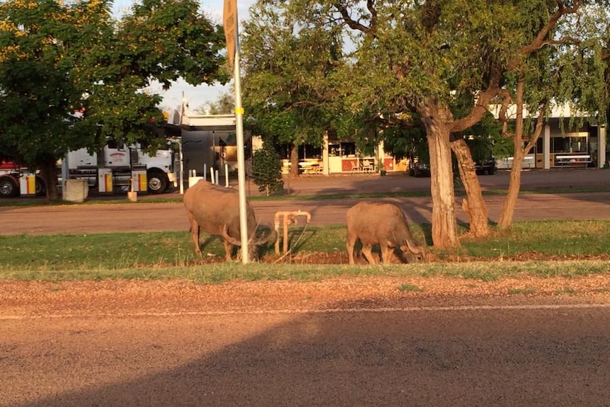
[(464, 190), (466, 190), (466, 198), (462, 202), (462, 207), (468, 215), (470, 232), (478, 238), (488, 236), (490, 230), (487, 205), (480, 190), (470, 149), (464, 139), (451, 142), (451, 149), (456, 155), (460, 178), (464, 184)]

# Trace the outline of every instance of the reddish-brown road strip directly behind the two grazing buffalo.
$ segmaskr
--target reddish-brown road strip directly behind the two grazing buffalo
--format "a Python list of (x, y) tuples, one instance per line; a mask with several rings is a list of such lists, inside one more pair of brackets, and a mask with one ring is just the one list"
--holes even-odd
[[(405, 211), (411, 222), (430, 222), (430, 197), (383, 198)], [(503, 197), (486, 198), (490, 219), (499, 218)], [(345, 211), (357, 199), (253, 201), (256, 217), (272, 225), (278, 211), (304, 211), (311, 214), (312, 226), (345, 224)], [(532, 219), (610, 219), (610, 193), (522, 195), (514, 220)], [(466, 214), (456, 202), (459, 222)], [(142, 203), (113, 205), (59, 205), (49, 207), (0, 207), (0, 234), (86, 234), (102, 232), (188, 231), (186, 212), (181, 203)]]

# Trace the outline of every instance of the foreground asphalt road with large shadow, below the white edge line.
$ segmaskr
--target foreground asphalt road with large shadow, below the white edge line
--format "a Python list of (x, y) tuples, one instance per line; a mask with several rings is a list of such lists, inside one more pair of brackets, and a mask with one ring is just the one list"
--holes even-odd
[(0, 406), (608, 406), (608, 305), (0, 321)]

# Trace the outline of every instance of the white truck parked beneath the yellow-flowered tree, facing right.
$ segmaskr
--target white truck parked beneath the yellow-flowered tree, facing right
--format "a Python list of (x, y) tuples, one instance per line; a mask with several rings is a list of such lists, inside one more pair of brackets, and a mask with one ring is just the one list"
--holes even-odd
[[(153, 194), (164, 193), (175, 187), (177, 182), (176, 169), (180, 163), (176, 161), (177, 154), (171, 149), (157, 150), (150, 156), (140, 149), (138, 144), (108, 144), (103, 149), (103, 157), (89, 154), (86, 149), (69, 151), (67, 154), (68, 178), (86, 179), (90, 187), (96, 187), (100, 192), (112, 193), (113, 190), (126, 190), (133, 187), (134, 174), (145, 173), (144, 186), (135, 190), (144, 190)], [(100, 185), (101, 179), (111, 177), (113, 190), (105, 190)]]

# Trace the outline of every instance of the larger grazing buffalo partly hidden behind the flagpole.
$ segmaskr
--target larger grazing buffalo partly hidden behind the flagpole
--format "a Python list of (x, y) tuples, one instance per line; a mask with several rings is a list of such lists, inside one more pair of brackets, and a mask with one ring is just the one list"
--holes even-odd
[[(200, 231), (212, 236), (221, 236), (224, 243), (226, 260), (231, 260), (233, 246), (241, 246), (241, 229), (239, 227), (239, 195), (231, 188), (223, 188), (205, 180), (188, 188), (183, 203), (190, 223), (190, 234), (195, 243), (195, 251), (201, 254), (199, 246)], [(254, 211), (247, 202), (248, 217), (248, 253), (258, 256), (258, 246), (275, 239), (275, 231), (264, 237), (258, 237), (258, 224)]]

